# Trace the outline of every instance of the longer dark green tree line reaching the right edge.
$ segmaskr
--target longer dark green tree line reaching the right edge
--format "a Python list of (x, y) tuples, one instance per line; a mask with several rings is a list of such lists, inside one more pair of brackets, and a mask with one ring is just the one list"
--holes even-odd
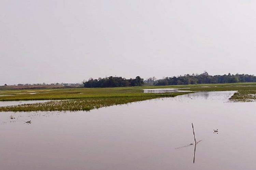
[[(152, 81), (151, 81), (152, 82)], [(256, 76), (248, 74), (230, 74), (228, 75), (209, 75), (206, 71), (202, 74), (186, 74), (179, 77), (166, 77), (163, 79), (154, 79), (153, 85), (183, 85), (183, 84), (217, 84), (217, 83), (239, 83), (256, 82)]]

